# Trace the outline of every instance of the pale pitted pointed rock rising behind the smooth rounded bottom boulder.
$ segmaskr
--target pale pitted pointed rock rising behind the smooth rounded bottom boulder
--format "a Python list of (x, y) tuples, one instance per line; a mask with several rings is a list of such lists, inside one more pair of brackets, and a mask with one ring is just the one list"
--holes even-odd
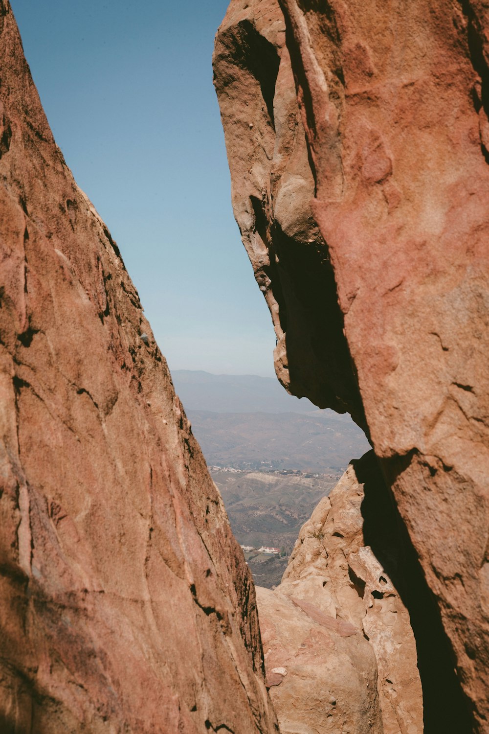
[[(391, 570), (399, 575), (402, 553), (383, 487), (372, 452), (353, 462), (301, 528), (277, 590), (364, 633), (378, 664), (384, 734), (418, 734), (423, 708), (416, 644), (408, 611), (389, 575)], [(390, 527), (389, 543), (372, 551), (364, 523), (366, 533), (377, 538)]]

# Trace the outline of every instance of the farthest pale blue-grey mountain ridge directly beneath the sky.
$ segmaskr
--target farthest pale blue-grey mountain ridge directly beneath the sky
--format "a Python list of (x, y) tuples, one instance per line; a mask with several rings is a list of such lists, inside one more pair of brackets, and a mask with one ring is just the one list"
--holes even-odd
[(174, 388), (185, 411), (213, 413), (312, 413), (308, 399), (289, 395), (275, 377), (173, 370)]

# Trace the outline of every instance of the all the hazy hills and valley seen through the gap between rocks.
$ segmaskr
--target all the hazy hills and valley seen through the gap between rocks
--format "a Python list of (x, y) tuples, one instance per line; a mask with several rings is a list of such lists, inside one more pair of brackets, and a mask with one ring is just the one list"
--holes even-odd
[(368, 450), (364, 433), (350, 415), (317, 410), (273, 378), (190, 370), (172, 378), (236, 539), (286, 553), (246, 553), (257, 584), (279, 584), (301, 526)]

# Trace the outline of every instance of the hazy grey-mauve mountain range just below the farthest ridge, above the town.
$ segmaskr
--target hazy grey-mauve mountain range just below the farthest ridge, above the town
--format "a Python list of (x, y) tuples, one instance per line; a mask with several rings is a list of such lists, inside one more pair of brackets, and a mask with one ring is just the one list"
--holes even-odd
[(188, 410), (209, 465), (237, 469), (344, 470), (370, 446), (364, 432), (330, 410), (316, 413), (212, 413)]

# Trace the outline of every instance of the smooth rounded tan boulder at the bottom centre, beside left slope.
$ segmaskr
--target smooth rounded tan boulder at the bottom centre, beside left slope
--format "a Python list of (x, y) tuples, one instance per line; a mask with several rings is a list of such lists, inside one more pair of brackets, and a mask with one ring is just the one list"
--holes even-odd
[(375, 655), (361, 633), (312, 604), (256, 591), (282, 734), (382, 734)]

